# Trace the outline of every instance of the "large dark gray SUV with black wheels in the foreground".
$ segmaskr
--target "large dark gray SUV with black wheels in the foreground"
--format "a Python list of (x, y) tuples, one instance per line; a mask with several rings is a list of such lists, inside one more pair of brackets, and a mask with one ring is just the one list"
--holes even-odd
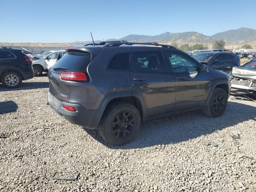
[(48, 72), (48, 103), (110, 144), (130, 142), (151, 118), (198, 109), (218, 117), (226, 108), (229, 76), (172, 46), (116, 41), (66, 51)]

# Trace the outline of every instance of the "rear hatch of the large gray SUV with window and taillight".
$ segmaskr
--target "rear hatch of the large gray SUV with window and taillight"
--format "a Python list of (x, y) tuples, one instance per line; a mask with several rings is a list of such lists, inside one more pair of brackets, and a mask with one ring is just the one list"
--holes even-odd
[[(58, 100), (68, 102), (70, 99), (70, 82), (90, 81), (87, 73), (88, 64), (98, 55), (102, 48), (76, 47), (67, 49), (67, 54), (56, 62), (48, 72), (49, 92)], [(66, 78), (68, 73), (82, 74), (84, 78)], [(63, 77), (64, 75), (64, 77)], [(74, 75), (73, 75), (74, 76)]]

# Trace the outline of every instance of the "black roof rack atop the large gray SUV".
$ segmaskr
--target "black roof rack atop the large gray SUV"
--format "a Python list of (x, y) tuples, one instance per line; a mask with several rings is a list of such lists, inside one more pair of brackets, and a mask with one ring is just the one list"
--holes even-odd
[(103, 45), (104, 47), (117, 47), (120, 45), (154, 45), (154, 46), (162, 46), (162, 47), (166, 47), (166, 48), (173, 48), (176, 49), (174, 46), (170, 46), (170, 45), (164, 45), (164, 44), (159, 44), (158, 42), (144, 42), (144, 43), (137, 43), (137, 42), (127, 42), (126, 40), (120, 40), (120, 41), (102, 41), (99, 43), (90, 43), (90, 44), (86, 44), (84, 46), (88, 46), (88, 45)]

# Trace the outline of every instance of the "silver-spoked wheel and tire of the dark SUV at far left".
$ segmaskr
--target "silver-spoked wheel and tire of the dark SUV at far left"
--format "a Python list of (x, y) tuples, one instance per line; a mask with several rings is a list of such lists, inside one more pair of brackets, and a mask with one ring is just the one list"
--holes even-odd
[(10, 71), (2, 76), (1, 82), (7, 88), (17, 88), (22, 82), (22, 76), (18, 72)]

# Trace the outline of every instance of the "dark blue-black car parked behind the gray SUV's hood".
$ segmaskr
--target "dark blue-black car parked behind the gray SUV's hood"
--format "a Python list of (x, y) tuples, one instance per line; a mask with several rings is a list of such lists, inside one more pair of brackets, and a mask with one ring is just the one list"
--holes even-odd
[(228, 52), (203, 52), (193, 55), (193, 58), (209, 68), (221, 70), (227, 74), (234, 66), (240, 67), (240, 58)]

